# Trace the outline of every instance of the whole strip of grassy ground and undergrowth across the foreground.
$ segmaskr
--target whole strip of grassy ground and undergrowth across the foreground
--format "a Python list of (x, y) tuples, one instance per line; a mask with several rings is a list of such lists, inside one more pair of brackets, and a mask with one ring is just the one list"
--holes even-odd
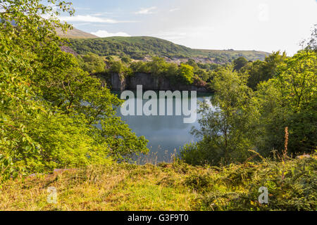
[[(0, 210), (316, 210), (317, 158), (226, 167), (114, 164), (1, 184)], [(57, 203), (46, 202), (47, 188)], [(267, 186), (269, 204), (258, 203)]]

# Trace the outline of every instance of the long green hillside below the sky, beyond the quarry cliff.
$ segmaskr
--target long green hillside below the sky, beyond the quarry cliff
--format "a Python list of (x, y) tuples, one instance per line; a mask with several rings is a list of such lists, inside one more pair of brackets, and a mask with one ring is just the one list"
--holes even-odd
[(244, 56), (247, 60), (263, 60), (269, 53), (263, 51), (234, 51), (190, 49), (156, 37), (106, 37), (96, 39), (70, 39), (72, 48), (79, 54), (88, 52), (99, 56), (128, 55), (147, 60), (151, 56), (165, 57), (168, 61), (180, 62), (193, 58), (201, 63), (228, 63)]

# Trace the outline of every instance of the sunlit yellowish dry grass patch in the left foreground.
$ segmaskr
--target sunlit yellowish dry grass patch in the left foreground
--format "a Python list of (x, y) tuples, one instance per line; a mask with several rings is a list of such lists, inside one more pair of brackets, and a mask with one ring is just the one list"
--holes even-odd
[[(8, 181), (0, 210), (191, 210), (196, 194), (158, 184), (167, 176), (179, 175), (154, 165), (113, 165)], [(51, 186), (57, 204), (46, 203)]]

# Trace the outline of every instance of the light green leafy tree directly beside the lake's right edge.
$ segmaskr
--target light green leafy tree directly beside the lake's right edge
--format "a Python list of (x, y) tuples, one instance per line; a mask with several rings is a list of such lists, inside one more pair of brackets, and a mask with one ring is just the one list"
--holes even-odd
[[(201, 103), (199, 129), (192, 134), (201, 141), (196, 146), (185, 146), (182, 158), (189, 160), (192, 151), (200, 156), (197, 164), (218, 165), (247, 158), (247, 150), (254, 147), (254, 124), (259, 117), (254, 94), (247, 86), (247, 77), (241, 77), (232, 66), (222, 68), (213, 78), (216, 95), (209, 103)], [(192, 155), (194, 157), (194, 155)], [(199, 159), (199, 158), (197, 158)]]

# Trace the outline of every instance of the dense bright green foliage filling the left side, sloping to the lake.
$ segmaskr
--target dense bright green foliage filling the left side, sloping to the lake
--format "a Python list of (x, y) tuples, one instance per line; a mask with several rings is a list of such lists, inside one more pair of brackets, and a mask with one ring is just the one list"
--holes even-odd
[[(49, 2), (73, 13), (66, 2)], [(58, 10), (39, 0), (1, 1), (0, 8), (1, 179), (147, 152), (144, 137), (116, 117), (122, 101), (61, 51), (55, 28), (69, 25), (41, 16)]]

